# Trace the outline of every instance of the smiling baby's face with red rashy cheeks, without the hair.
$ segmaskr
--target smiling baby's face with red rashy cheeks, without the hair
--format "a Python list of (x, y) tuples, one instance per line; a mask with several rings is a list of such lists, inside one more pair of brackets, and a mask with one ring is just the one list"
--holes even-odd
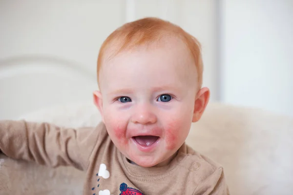
[(167, 164), (193, 120), (196, 68), (178, 40), (124, 51), (100, 72), (96, 102), (116, 147), (143, 167)]

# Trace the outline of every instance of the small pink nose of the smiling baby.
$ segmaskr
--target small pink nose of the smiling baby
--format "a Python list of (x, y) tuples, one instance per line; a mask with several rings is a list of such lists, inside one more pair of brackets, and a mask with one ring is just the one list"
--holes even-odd
[(138, 105), (132, 114), (131, 121), (137, 124), (153, 124), (157, 122), (157, 116), (150, 105)]

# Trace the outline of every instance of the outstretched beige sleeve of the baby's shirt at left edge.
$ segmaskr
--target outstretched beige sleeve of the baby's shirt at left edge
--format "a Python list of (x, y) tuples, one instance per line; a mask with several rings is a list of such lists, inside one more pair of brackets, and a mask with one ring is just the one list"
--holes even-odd
[(0, 121), (0, 151), (13, 159), (85, 170), (100, 126), (76, 130), (49, 123)]

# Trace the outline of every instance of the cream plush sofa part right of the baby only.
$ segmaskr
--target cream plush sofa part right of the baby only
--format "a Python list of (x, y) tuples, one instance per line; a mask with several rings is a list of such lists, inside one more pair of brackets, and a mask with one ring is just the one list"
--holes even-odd
[(223, 165), (233, 195), (293, 194), (293, 118), (210, 104), (187, 143)]

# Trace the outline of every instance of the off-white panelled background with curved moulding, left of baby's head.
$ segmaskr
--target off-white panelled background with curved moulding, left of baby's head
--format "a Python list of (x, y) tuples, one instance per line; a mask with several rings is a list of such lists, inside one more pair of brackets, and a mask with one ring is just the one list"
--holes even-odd
[(0, 119), (90, 101), (106, 36), (124, 22), (122, 1), (0, 1)]

